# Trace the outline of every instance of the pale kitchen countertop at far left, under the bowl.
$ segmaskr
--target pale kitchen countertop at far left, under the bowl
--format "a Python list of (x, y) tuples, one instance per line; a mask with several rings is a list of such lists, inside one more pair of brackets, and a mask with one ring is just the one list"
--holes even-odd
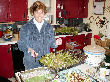
[(11, 41), (5, 41), (3, 38), (0, 38), (0, 45), (8, 45), (8, 44), (15, 44), (18, 41), (18, 34), (14, 34), (14, 37)]

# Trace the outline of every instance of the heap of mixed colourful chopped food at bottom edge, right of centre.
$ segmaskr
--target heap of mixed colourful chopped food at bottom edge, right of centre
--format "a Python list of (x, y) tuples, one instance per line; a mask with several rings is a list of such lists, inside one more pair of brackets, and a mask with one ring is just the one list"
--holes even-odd
[(93, 78), (76, 68), (70, 68), (58, 73), (60, 82), (96, 82)]

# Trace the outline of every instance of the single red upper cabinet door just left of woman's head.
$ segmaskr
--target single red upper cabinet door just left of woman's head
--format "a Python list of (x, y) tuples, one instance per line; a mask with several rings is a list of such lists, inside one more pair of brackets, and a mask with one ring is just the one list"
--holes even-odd
[(10, 20), (27, 21), (28, 15), (27, 0), (10, 0)]

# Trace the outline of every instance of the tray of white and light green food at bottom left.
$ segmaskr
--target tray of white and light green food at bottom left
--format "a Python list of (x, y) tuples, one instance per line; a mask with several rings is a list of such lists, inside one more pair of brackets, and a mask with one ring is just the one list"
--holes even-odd
[(55, 77), (48, 68), (39, 67), (33, 70), (21, 72), (21, 79), (23, 82), (48, 82)]

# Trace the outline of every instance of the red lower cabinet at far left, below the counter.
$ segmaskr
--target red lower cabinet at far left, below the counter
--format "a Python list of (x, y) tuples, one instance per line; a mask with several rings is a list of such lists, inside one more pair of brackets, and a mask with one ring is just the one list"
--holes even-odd
[(11, 45), (0, 45), (0, 76), (10, 78), (13, 75)]

